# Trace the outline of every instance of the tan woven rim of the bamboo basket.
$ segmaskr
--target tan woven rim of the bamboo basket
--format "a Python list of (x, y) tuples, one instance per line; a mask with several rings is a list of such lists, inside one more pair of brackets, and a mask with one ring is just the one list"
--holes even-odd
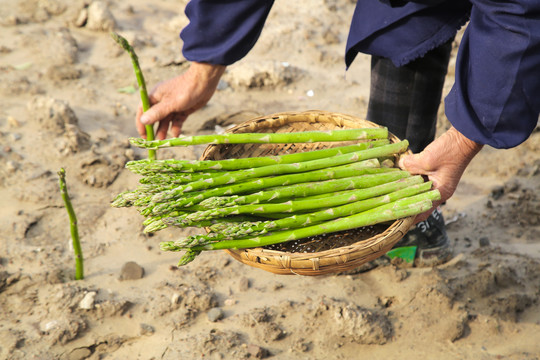
[[(259, 116), (246, 120), (226, 132), (254, 132), (262, 125), (280, 127), (293, 122), (309, 122), (316, 124), (319, 121), (335, 123), (336, 127), (381, 127), (369, 120), (356, 116), (323, 110), (287, 111), (270, 115)], [(268, 130), (265, 128), (265, 130)], [(395, 135), (389, 133), (391, 141), (400, 141)], [(208, 145), (201, 155), (201, 159), (211, 157), (216, 146)], [(407, 150), (407, 154), (412, 154)], [(226, 249), (225, 252), (234, 259), (275, 274), (296, 275), (326, 275), (357, 268), (365, 262), (371, 261), (389, 251), (409, 230), (414, 223), (414, 216), (398, 219), (383, 232), (371, 238), (354, 242), (350, 245), (323, 250), (313, 253), (286, 252), (279, 250), (257, 248)]]

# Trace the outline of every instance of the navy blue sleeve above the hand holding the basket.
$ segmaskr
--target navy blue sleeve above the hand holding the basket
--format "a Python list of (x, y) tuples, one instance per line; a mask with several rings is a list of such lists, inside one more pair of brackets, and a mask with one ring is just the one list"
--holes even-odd
[(540, 1), (472, 3), (446, 115), (471, 140), (514, 147), (540, 113)]

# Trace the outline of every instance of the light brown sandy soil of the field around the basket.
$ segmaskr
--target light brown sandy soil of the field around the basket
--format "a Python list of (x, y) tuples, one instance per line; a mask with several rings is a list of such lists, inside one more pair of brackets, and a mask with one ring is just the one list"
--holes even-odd
[[(314, 3), (276, 4), (259, 43), (186, 133), (282, 111), (365, 115), (369, 58), (347, 72), (342, 60), (353, 1)], [(152, 87), (188, 65), (184, 6), (0, 6), (0, 358), (540, 358), (538, 131), (474, 159), (444, 207), (455, 258), (436, 268), (279, 276), (215, 252), (178, 269), (178, 254), (157, 244), (187, 231), (145, 235), (135, 210), (111, 208), (137, 184), (125, 162), (144, 153), (127, 142), (139, 97), (108, 31), (135, 45)], [(439, 125), (448, 126), (443, 115)], [(73, 280), (61, 167), (79, 219), (82, 281)], [(142, 278), (123, 279), (129, 262)]]

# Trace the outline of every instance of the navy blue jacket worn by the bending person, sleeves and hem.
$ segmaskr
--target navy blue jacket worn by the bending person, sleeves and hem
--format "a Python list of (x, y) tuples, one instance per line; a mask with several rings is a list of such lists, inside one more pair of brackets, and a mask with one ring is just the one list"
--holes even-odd
[[(273, 0), (192, 0), (181, 32), (190, 61), (230, 65), (259, 38)], [(540, 114), (539, 0), (358, 0), (345, 64), (358, 52), (397, 66), (453, 37), (467, 21), (445, 99), (452, 125), (495, 148), (525, 141)]]

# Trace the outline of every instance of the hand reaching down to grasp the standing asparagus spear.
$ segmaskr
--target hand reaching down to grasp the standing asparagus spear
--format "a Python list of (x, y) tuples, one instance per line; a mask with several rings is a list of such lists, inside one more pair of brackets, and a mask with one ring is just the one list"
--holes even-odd
[(180, 135), (187, 117), (202, 108), (216, 91), (219, 79), (225, 72), (223, 65), (192, 63), (180, 76), (159, 83), (150, 92), (151, 107), (143, 113), (137, 110), (137, 131), (146, 138), (145, 125), (159, 123), (155, 138), (163, 140), (169, 131), (173, 137)]

